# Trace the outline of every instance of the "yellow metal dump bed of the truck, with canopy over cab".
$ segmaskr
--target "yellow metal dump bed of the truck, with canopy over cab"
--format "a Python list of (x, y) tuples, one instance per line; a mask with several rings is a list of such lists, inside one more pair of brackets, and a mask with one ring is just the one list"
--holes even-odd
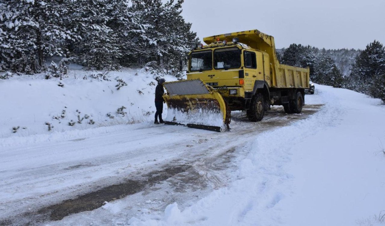
[[(258, 30), (240, 31), (223, 35), (203, 38), (208, 45), (219, 40), (231, 42), (234, 37), (239, 38), (239, 43), (248, 45), (269, 54), (270, 61), (270, 87), (276, 88), (309, 88), (310, 69), (299, 68), (280, 64), (276, 56), (274, 37)], [(266, 79), (268, 81), (268, 79)]]

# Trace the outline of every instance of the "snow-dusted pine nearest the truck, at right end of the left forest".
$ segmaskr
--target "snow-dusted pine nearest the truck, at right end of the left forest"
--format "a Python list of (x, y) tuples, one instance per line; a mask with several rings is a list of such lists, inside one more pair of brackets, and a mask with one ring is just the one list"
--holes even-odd
[[(133, 0), (134, 11), (142, 12), (139, 24), (147, 32), (137, 38), (139, 61), (156, 61), (169, 72), (181, 70), (191, 43), (198, 42), (191, 24), (181, 16), (183, 0)], [(144, 63), (143, 62), (143, 63)]]

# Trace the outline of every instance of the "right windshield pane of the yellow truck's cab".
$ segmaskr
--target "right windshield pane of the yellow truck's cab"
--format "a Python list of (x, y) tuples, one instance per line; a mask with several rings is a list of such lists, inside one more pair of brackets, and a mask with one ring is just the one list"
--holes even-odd
[(241, 67), (241, 50), (233, 48), (216, 49), (214, 51), (214, 68), (230, 69)]

